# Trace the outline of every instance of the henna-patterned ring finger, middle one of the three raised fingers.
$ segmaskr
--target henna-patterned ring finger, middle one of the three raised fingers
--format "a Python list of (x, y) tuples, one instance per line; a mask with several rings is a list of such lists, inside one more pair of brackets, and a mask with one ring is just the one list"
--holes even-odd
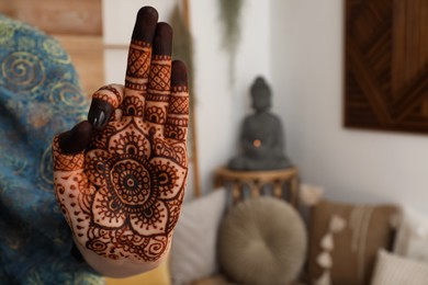
[[(161, 125), (167, 122), (169, 95), (171, 92), (172, 29), (167, 23), (156, 27), (151, 66), (148, 77), (145, 119), (149, 124)], [(161, 130), (164, 133), (164, 130)]]

